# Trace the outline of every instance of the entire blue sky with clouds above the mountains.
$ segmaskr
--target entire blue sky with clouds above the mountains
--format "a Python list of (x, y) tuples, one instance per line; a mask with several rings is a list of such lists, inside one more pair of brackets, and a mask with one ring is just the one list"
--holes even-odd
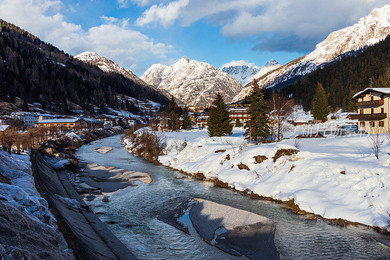
[[(358, 3), (358, 4), (356, 4)], [(378, 0), (0, 0), (0, 18), (72, 55), (94, 51), (142, 73), (182, 56), (281, 64), (356, 23)], [(237, 63), (237, 62), (236, 62)]]

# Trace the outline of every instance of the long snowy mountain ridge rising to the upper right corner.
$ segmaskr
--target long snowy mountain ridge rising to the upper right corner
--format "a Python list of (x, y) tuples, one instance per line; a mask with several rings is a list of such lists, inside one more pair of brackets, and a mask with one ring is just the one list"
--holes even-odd
[[(361, 18), (358, 23), (332, 32), (325, 40), (315, 46), (310, 54), (292, 60), (289, 63), (256, 77), (262, 87), (283, 86), (287, 81), (298, 79), (328, 62), (337, 60), (343, 55), (362, 50), (368, 45), (383, 40), (390, 34), (390, 5), (376, 8)], [(233, 101), (245, 98), (252, 86), (248, 83)]]

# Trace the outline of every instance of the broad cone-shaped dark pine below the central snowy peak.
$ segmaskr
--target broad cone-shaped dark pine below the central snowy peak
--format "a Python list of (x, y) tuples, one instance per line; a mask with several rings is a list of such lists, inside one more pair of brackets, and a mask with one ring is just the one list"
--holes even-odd
[(232, 135), (233, 124), (230, 123), (229, 111), (219, 92), (215, 95), (212, 104), (213, 106), (209, 112), (209, 120), (207, 121), (207, 132), (209, 133), (209, 136)]

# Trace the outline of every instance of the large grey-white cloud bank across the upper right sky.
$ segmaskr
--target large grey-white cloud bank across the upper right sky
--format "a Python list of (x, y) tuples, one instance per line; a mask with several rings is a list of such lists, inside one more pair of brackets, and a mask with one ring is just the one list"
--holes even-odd
[[(323, 40), (329, 33), (356, 23), (388, 0), (175, 0), (154, 4), (137, 19), (142, 26), (160, 23), (164, 27), (178, 22), (189, 26), (203, 20), (221, 27), (229, 38), (261, 37), (271, 50), (275, 39), (299, 42), (295, 47)], [(267, 37), (269, 39), (267, 39)], [(294, 42), (291, 42), (294, 48)], [(284, 48), (286, 44), (282, 44)]]

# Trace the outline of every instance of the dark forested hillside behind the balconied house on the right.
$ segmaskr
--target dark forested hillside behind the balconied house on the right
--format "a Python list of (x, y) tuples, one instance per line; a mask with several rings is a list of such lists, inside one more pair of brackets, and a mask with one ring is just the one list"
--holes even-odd
[(351, 106), (354, 93), (370, 87), (390, 87), (390, 37), (367, 47), (357, 55), (343, 57), (323, 69), (318, 69), (281, 89), (285, 95), (301, 103), (305, 110), (310, 110), (318, 82), (327, 93), (332, 108)]

